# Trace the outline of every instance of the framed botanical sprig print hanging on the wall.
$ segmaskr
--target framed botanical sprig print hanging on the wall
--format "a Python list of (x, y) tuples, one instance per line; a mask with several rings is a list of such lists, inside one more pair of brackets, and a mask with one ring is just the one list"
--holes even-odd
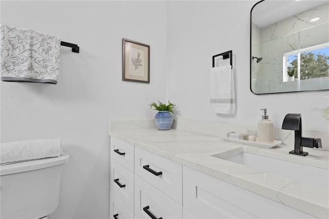
[(150, 83), (150, 46), (122, 39), (122, 80)]

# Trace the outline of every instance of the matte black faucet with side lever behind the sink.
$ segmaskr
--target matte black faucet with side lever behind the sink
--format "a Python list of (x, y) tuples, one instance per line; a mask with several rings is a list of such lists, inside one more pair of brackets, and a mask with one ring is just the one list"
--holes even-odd
[(302, 116), (296, 113), (287, 114), (282, 123), (282, 129), (295, 130), (295, 150), (289, 154), (297, 154), (301, 156), (308, 155), (303, 152), (303, 147), (307, 148), (322, 148), (320, 138), (303, 138), (302, 137)]

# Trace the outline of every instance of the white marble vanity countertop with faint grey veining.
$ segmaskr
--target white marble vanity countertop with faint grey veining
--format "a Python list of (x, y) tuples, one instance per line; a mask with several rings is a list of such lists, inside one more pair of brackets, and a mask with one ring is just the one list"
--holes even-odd
[[(260, 171), (218, 158), (225, 154), (244, 151), (328, 170), (329, 152), (327, 150), (304, 148), (309, 155), (301, 157), (288, 154), (294, 146), (285, 145), (285, 143), (266, 149), (227, 142), (220, 137), (226, 130), (221, 130), (217, 136), (211, 132), (207, 134), (207, 131), (195, 132), (191, 127), (200, 125), (197, 122), (189, 121), (186, 126), (181, 125), (186, 121), (177, 120), (175, 129), (168, 131), (157, 130), (152, 122), (152, 120), (111, 121), (109, 135), (315, 217), (329, 218), (328, 185), (306, 184), (291, 177)], [(216, 125), (221, 126), (221, 123), (210, 122), (209, 128), (213, 130)], [(207, 130), (205, 128), (207, 122), (203, 122), (202, 126), (203, 130)], [(238, 129), (239, 125), (231, 125), (229, 128), (234, 129), (234, 126)], [(324, 134), (327, 135), (326, 132)], [(287, 138), (288, 136), (281, 140), (285, 142)]]

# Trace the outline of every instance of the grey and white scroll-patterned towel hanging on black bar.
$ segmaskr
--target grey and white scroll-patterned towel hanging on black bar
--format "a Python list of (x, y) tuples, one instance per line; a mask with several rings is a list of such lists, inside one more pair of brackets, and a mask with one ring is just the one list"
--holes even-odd
[(61, 40), (1, 25), (1, 80), (57, 84)]

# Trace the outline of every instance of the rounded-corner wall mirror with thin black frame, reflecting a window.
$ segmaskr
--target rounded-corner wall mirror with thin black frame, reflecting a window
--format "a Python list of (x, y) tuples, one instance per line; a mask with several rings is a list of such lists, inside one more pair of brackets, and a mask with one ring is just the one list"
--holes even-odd
[(250, 89), (329, 89), (329, 2), (268, 1), (250, 12)]

